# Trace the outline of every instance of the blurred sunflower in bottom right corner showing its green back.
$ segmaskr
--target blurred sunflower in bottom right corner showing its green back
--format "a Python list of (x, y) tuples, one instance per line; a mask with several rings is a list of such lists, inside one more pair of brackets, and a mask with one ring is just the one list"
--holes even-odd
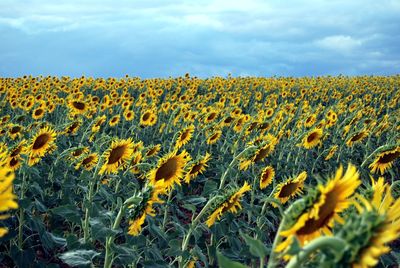
[(374, 267), (381, 255), (390, 251), (388, 243), (400, 237), (400, 199), (395, 200), (390, 187), (379, 178), (372, 185), (373, 196), (358, 196), (358, 214), (353, 215), (337, 234), (348, 244), (349, 253), (338, 263), (346, 267)]

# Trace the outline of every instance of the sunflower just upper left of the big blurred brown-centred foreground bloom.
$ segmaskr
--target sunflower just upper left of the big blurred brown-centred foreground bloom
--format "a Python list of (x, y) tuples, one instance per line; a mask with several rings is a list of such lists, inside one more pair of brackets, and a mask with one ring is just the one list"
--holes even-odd
[(274, 197), (282, 204), (285, 204), (290, 198), (302, 193), (304, 181), (306, 179), (307, 172), (303, 171), (297, 175), (296, 178), (289, 178), (286, 181), (281, 182), (276, 186)]

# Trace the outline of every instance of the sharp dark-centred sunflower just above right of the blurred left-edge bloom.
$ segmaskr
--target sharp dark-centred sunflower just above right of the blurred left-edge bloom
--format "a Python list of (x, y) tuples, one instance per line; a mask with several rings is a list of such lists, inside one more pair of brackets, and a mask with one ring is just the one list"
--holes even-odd
[(49, 126), (46, 126), (39, 130), (37, 134), (31, 140), (28, 147), (30, 158), (41, 158), (46, 153), (51, 153), (57, 146), (55, 145), (57, 134)]

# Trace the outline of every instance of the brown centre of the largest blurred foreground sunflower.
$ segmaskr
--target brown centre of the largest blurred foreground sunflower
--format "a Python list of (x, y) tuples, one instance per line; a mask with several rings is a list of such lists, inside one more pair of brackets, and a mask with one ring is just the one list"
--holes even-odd
[(325, 203), (319, 208), (318, 219), (308, 219), (297, 234), (309, 235), (327, 226), (335, 214), (337, 201), (336, 193), (329, 192), (325, 197)]

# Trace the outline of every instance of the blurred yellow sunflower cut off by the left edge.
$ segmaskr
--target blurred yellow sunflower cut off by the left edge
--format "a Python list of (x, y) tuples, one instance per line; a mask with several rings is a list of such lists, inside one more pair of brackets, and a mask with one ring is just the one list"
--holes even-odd
[[(17, 197), (13, 194), (14, 172), (7, 167), (6, 152), (0, 154), (0, 219), (4, 220), (10, 217), (5, 214), (10, 209), (17, 209)], [(0, 237), (7, 234), (8, 229), (0, 227)]]

